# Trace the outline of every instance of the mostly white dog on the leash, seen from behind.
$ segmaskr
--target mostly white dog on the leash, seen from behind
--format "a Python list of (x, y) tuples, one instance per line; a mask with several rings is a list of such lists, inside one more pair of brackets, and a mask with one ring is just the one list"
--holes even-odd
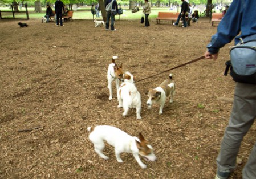
[(118, 107), (124, 108), (123, 116), (127, 116), (129, 108), (136, 108), (136, 117), (141, 119), (141, 100), (140, 93), (134, 84), (134, 77), (130, 72), (123, 74), (124, 82), (121, 84), (117, 92)]

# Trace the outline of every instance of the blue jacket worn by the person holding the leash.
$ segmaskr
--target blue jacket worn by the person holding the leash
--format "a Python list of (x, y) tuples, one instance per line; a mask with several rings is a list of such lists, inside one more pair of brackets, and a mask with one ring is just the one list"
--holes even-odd
[[(206, 46), (208, 51), (211, 54), (216, 54), (221, 47), (230, 43), (234, 38), (235, 44), (239, 43), (239, 38), (256, 39), (255, 15), (255, 0), (233, 0), (218, 25), (217, 33), (212, 36), (211, 42)], [(239, 34), (240, 32), (241, 34)]]

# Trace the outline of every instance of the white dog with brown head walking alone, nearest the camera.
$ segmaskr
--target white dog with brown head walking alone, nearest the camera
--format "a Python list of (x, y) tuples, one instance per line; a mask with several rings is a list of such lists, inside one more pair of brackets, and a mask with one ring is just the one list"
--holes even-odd
[(90, 132), (89, 139), (94, 144), (95, 152), (105, 160), (108, 160), (108, 156), (105, 156), (102, 151), (105, 148), (104, 141), (107, 141), (109, 145), (115, 147), (117, 162), (123, 162), (120, 158), (120, 154), (123, 152), (132, 153), (143, 169), (147, 168), (147, 165), (143, 164), (139, 155), (149, 161), (156, 161), (152, 146), (148, 144), (148, 141), (144, 139), (141, 133), (139, 133), (138, 137), (130, 136), (119, 128), (109, 125), (88, 127), (87, 130)]

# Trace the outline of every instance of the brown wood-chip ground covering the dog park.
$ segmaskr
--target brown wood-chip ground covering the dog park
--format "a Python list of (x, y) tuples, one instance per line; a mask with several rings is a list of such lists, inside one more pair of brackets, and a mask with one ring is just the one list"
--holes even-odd
[[(149, 17), (150, 18), (150, 17)], [(0, 20), (0, 178), (214, 178), (216, 157), (227, 125), (235, 83), (224, 76), (231, 44), (217, 61), (200, 60), (136, 83), (141, 94), (141, 120), (135, 109), (123, 117), (116, 89), (108, 100), (107, 67), (119, 56), (137, 80), (202, 56), (217, 29), (209, 19), (191, 27), (170, 22), (143, 27), (139, 21), (116, 21), (116, 31), (74, 20), (57, 27), (38, 20)], [(232, 43), (233, 44), (233, 43)], [(176, 81), (174, 103), (147, 109), (145, 92), (169, 73)], [(156, 162), (141, 169), (130, 153), (116, 161), (106, 145), (104, 161), (88, 140), (88, 126), (113, 125), (152, 144)], [(39, 127), (39, 128), (37, 128)], [(32, 131), (19, 131), (37, 128)], [(253, 128), (239, 151), (231, 178), (255, 143)]]

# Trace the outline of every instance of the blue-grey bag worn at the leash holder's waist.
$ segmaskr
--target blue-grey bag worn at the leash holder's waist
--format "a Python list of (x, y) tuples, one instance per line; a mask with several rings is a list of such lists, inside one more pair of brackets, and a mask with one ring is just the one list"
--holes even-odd
[(230, 50), (230, 75), (235, 82), (256, 84), (256, 40), (240, 40)]

